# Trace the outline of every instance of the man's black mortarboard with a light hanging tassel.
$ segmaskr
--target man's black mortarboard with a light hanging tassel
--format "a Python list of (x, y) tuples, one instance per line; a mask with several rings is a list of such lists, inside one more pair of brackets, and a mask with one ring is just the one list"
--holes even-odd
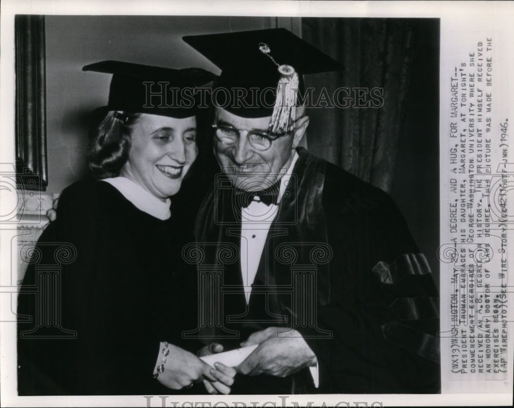
[[(246, 118), (271, 116), (272, 133), (292, 130), (303, 75), (343, 70), (339, 62), (285, 28), (187, 35), (182, 39), (221, 68), (214, 92), (224, 88), (231, 98), (222, 107)], [(234, 96), (238, 88), (239, 98)], [(213, 99), (216, 103), (214, 93)]]

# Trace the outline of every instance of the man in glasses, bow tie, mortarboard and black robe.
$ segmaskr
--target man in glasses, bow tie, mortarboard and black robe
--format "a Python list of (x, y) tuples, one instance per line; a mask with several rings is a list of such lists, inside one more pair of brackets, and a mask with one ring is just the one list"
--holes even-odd
[(232, 393), (438, 392), (437, 290), (405, 219), (386, 193), (299, 147), (302, 75), (340, 64), (285, 29), (184, 40), (222, 69), (223, 175), (195, 235), (201, 337), (257, 345)]

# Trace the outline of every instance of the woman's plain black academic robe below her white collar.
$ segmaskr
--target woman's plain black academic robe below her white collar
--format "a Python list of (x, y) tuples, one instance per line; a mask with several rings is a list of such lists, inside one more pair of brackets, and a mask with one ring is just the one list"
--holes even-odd
[(153, 370), (159, 343), (180, 346), (191, 321), (195, 271), (181, 256), (190, 230), (178, 215), (159, 220), (103, 181), (62, 192), (57, 220), (28, 251), (18, 303), (20, 395), (174, 393)]

